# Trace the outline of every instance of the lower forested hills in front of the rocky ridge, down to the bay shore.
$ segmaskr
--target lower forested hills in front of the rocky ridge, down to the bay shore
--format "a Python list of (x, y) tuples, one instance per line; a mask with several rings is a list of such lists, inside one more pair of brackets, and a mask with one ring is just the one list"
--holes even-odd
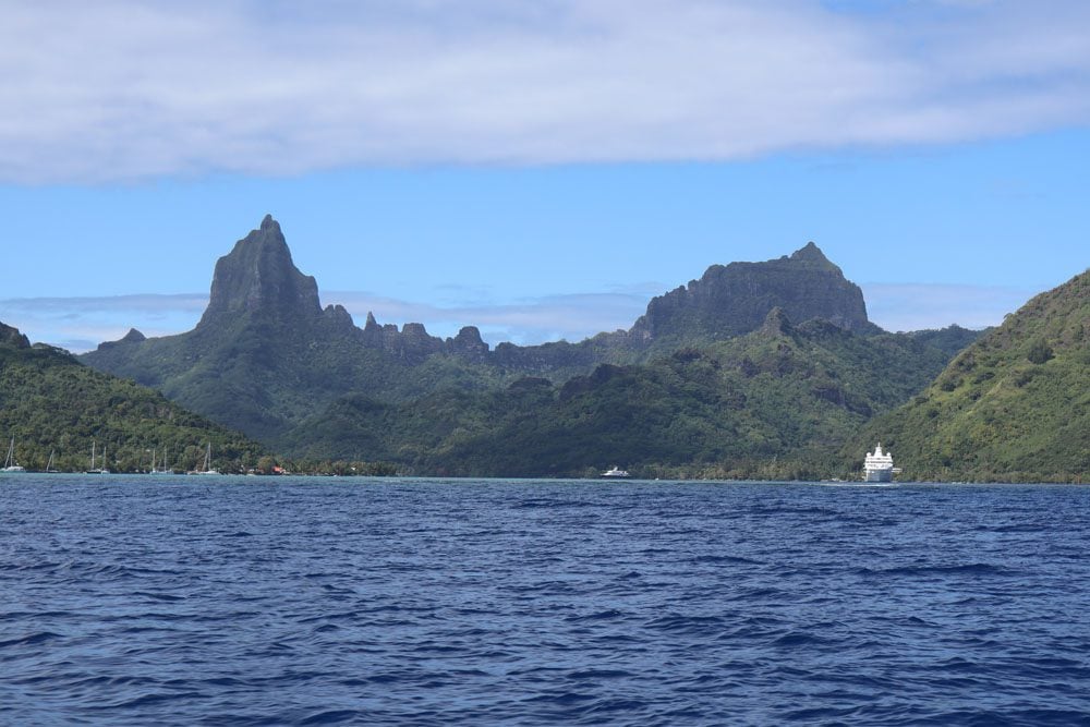
[(370, 452), (421, 474), (586, 475), (621, 463), (644, 475), (802, 476), (834, 468), (873, 412), (920, 390), (945, 360), (907, 337), (795, 327), (775, 310), (744, 337), (602, 364), (562, 386), (523, 378), (413, 402), (349, 397), (281, 445), (315, 458)]

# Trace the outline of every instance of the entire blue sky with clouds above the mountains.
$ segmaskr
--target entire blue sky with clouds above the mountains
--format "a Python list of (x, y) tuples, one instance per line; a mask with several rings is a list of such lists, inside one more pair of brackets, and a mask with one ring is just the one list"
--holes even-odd
[(323, 304), (628, 328), (815, 242), (888, 330), (1090, 264), (1082, 0), (9, 0), (0, 322), (189, 330), (265, 214)]

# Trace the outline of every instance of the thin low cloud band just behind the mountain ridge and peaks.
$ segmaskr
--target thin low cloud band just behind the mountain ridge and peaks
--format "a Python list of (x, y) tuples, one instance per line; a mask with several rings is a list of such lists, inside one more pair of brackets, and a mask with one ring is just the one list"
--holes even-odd
[[(886, 330), (942, 328), (952, 323), (984, 328), (1021, 307), (1040, 291), (949, 284), (863, 284), (871, 320)], [(488, 343), (580, 341), (602, 331), (629, 328), (647, 302), (665, 288), (552, 295), (514, 302), (475, 302), (440, 306), (384, 298), (367, 292), (323, 293), (323, 303), (343, 305), (363, 326), (368, 312), (380, 324), (422, 323), (434, 336), (449, 337), (462, 326), (477, 326)], [(121, 295), (113, 298), (37, 298), (0, 300), (0, 322), (33, 341), (80, 353), (121, 338), (130, 328), (145, 336), (192, 329), (207, 295)]]

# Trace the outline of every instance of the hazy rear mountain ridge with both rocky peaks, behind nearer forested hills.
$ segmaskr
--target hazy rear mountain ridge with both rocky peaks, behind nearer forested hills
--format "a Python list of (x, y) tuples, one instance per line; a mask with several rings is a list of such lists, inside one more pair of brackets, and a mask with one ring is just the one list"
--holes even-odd
[[(845, 330), (877, 330), (867, 320), (859, 288), (811, 243), (766, 263), (714, 265), (700, 280), (654, 299), (631, 330), (578, 343), (500, 343), (489, 350), (473, 326), (439, 338), (420, 323), (399, 328), (371, 314), (361, 328), (342, 306), (322, 308), (317, 283), (295, 267), (280, 226), (267, 216), (217, 262), (208, 307), (193, 330), (164, 338), (130, 331), (81, 359), (158, 388), (284, 451), (298, 451), (319, 436), (303, 423), (320, 421), (313, 417), (338, 401), (402, 405), (444, 390), (496, 391), (528, 375), (558, 384), (582, 376), (611, 385), (608, 377), (629, 376), (633, 366), (662, 353), (762, 326), (770, 336), (786, 338), (792, 326), (818, 325), (814, 318), (824, 322), (820, 325), (833, 331), (828, 338), (834, 340), (863, 338)], [(794, 372), (796, 358), (785, 353), (730, 365), (755, 377), (771, 366)], [(578, 390), (578, 383), (572, 386), (567, 395)], [(840, 403), (839, 395), (828, 390), (823, 397)], [(329, 433), (330, 441), (340, 436)]]

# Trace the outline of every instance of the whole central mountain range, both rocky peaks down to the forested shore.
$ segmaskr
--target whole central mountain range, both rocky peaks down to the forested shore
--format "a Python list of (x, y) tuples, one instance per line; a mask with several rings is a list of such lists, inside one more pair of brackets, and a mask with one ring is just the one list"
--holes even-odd
[(344, 308), (322, 307), (266, 217), (217, 262), (193, 330), (131, 331), (82, 360), (311, 460), (756, 473), (770, 459), (777, 472), (832, 467), (851, 432), (921, 390), (971, 336), (884, 334), (813, 243), (713, 265), (653, 299), (631, 329), (578, 343), (489, 350), (472, 326), (439, 339), (372, 315), (359, 328)]

